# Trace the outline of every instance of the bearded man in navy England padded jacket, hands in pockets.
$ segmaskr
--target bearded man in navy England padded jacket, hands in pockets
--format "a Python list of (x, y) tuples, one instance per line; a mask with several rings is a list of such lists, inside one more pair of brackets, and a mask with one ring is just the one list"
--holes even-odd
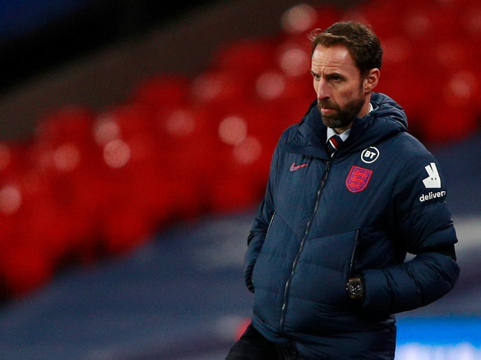
[(404, 110), (373, 92), (381, 57), (359, 23), (313, 37), (317, 100), (274, 151), (245, 258), (252, 323), (228, 360), (393, 359), (392, 314), (454, 286), (444, 179)]

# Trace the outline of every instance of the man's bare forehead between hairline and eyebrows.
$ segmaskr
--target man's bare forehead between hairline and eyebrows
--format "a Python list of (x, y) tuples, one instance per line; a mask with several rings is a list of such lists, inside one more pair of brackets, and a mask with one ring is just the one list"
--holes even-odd
[(312, 70), (339, 70), (358, 73), (358, 68), (346, 46), (338, 44), (325, 47), (317, 45), (311, 58)]

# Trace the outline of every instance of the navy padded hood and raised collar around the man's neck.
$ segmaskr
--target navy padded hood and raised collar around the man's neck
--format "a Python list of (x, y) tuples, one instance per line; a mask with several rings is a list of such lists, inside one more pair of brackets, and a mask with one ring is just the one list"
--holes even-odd
[[(396, 101), (383, 93), (373, 92), (370, 102), (373, 110), (364, 117), (354, 119), (349, 137), (339, 148), (340, 154), (374, 146), (398, 132), (407, 131), (406, 113)], [(317, 99), (296, 125), (294, 133), (288, 139), (288, 146), (291, 152), (327, 158), (327, 127), (322, 122), (322, 115), (316, 105)]]

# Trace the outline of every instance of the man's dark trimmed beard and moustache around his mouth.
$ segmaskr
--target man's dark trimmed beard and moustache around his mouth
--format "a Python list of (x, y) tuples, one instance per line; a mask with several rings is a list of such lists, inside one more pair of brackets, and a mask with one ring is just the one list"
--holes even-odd
[[(361, 111), (364, 101), (365, 99), (361, 95), (359, 97), (353, 97), (341, 108), (337, 103), (328, 99), (322, 102), (318, 101), (317, 107), (321, 113), (324, 125), (331, 128), (343, 128), (354, 120), (359, 111)], [(322, 107), (334, 109), (335, 111), (331, 114), (323, 114), (321, 111)]]

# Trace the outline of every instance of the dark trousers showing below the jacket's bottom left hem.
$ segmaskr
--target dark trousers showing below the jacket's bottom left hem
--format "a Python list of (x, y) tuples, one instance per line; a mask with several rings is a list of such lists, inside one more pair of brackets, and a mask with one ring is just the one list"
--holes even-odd
[(303, 360), (297, 353), (268, 341), (252, 323), (232, 346), (225, 360)]

